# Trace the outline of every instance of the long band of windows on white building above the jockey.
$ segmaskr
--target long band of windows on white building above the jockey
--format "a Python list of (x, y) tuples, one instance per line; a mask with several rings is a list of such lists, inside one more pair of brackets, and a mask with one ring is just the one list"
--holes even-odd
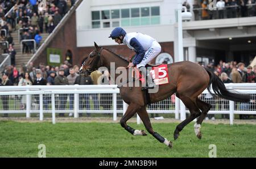
[(92, 28), (160, 24), (160, 7), (92, 11)]

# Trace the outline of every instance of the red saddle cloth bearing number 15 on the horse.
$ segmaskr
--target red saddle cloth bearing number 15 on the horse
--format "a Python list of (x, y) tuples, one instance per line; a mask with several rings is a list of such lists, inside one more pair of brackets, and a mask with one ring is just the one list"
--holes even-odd
[[(144, 77), (142, 77), (142, 74), (141, 74), (141, 72), (139, 72), (139, 69), (137, 67), (134, 67), (133, 70), (135, 71), (135, 76), (139, 77), (139, 80), (142, 83), (145, 83), (145, 79), (144, 79)], [(168, 67), (166, 64), (152, 66), (150, 75), (156, 85), (162, 85), (162, 84), (169, 83)]]

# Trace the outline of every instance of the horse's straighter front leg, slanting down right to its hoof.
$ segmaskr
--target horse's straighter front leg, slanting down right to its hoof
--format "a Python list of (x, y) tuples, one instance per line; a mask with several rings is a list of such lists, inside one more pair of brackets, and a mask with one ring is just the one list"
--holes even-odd
[(138, 111), (138, 115), (139, 117), (141, 117), (141, 120), (143, 121), (144, 126), (146, 127), (147, 131), (152, 134), (152, 136), (154, 136), (156, 138), (156, 140), (158, 140), (161, 143), (164, 143), (165, 145), (167, 145), (168, 147), (172, 147), (172, 142), (168, 141), (167, 138), (163, 138), (162, 136), (160, 136), (160, 134), (156, 133), (152, 126), (151, 126), (151, 122), (150, 119), (148, 117), (147, 111), (146, 111), (146, 106), (142, 107), (139, 111)]

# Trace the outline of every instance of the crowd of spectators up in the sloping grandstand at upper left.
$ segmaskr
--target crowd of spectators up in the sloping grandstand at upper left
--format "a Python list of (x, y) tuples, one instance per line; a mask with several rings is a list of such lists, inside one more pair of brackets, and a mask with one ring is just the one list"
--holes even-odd
[[(2, 53), (11, 52), (8, 45), (19, 45), (14, 44), (13, 37), (11, 37), (11, 32), (18, 30), (20, 30), (20, 40), (34, 39), (36, 49), (39, 48), (42, 41), (41, 33), (51, 33), (67, 11), (71, 9), (75, 0), (46, 1), (46, 10), (43, 11), (38, 10), (39, 3), (40, 1), (36, 0), (0, 1)], [(13, 10), (9, 12), (12, 7)], [(9, 13), (7, 14), (7, 12)], [(8, 44), (5, 43), (6, 41)], [(32, 41), (23, 41), (22, 44), (23, 53), (35, 52)]]

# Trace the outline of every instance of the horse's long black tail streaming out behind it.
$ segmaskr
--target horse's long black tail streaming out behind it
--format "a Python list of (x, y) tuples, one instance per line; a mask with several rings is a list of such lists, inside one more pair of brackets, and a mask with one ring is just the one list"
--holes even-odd
[[(250, 102), (250, 98), (251, 98), (250, 95), (238, 94), (238, 93), (228, 91), (225, 87), (225, 84), (221, 81), (219, 77), (217, 77), (216, 74), (214, 74), (212, 71), (208, 70), (207, 68), (205, 68), (205, 70), (207, 70), (207, 73), (210, 76), (210, 81), (207, 86), (207, 90), (211, 95), (213, 96), (216, 95), (220, 98), (232, 100), (234, 102)], [(210, 84), (212, 84), (212, 90), (214, 93), (210, 91)]]

